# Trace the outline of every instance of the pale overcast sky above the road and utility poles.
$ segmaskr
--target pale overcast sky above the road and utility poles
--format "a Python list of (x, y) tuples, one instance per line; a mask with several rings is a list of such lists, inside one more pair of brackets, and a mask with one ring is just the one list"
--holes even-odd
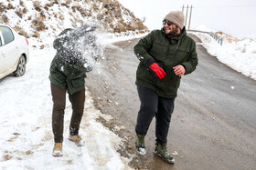
[[(139, 18), (145, 17), (149, 29), (162, 27), (162, 20), (170, 11), (192, 9), (190, 28), (205, 25), (236, 37), (256, 38), (256, 0), (118, 0)], [(186, 16), (187, 9), (184, 10)], [(188, 19), (187, 19), (188, 27)]]

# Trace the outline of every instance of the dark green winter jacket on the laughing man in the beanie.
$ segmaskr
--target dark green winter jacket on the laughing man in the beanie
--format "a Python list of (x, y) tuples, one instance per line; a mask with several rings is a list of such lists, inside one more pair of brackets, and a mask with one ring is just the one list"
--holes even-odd
[[(165, 98), (175, 98), (180, 85), (181, 77), (175, 75), (173, 67), (183, 65), (187, 75), (197, 66), (196, 43), (187, 36), (185, 27), (180, 35), (165, 35), (164, 28), (152, 31), (134, 46), (134, 53), (140, 60), (135, 84), (151, 88)], [(153, 62), (164, 69), (165, 78), (157, 78), (148, 68)]]

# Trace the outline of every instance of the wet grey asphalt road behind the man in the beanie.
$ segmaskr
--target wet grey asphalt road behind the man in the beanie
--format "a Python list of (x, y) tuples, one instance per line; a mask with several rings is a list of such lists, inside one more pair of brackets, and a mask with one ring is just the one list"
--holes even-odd
[[(199, 39), (191, 35), (197, 43)], [(105, 48), (100, 69), (88, 74), (86, 85), (103, 114), (124, 126), (128, 154), (136, 155), (137, 169), (256, 169), (256, 81), (240, 75), (197, 45), (199, 63), (182, 77), (167, 147), (176, 163), (169, 165), (154, 155), (155, 120), (145, 138), (146, 155), (134, 151), (134, 126), (139, 109), (133, 55), (138, 39)], [(223, 46), (225, 47), (225, 46)], [(100, 72), (99, 72), (100, 70)], [(125, 155), (125, 154), (124, 154)]]

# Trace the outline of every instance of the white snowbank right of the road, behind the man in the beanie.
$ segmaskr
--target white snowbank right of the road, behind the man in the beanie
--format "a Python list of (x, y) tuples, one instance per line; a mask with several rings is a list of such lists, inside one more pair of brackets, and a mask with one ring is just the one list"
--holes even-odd
[[(198, 30), (216, 32), (206, 26), (200, 26)], [(229, 43), (229, 40), (224, 38), (223, 44), (220, 45), (208, 34), (195, 32), (191, 34), (197, 35), (208, 53), (216, 56), (221, 63), (256, 80), (256, 40), (244, 38)]]

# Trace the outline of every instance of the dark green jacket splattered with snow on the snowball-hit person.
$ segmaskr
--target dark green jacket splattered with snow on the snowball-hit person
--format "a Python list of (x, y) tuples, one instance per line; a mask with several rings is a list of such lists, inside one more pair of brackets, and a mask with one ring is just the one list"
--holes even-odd
[(77, 41), (80, 36), (78, 32), (67, 28), (53, 42), (57, 53), (50, 65), (49, 80), (60, 88), (67, 87), (70, 94), (84, 88), (86, 72), (91, 71), (91, 68), (85, 66), (86, 61), (82, 60), (80, 46), (76, 47), (76, 43), (80, 43)]

